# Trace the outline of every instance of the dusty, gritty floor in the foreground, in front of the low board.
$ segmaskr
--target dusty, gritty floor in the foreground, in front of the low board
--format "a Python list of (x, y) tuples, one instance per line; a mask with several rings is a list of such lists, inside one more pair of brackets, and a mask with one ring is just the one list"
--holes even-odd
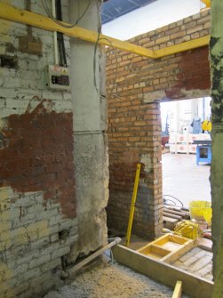
[[(44, 298), (169, 298), (173, 289), (118, 263), (102, 263)], [(182, 295), (187, 298), (187, 295)]]

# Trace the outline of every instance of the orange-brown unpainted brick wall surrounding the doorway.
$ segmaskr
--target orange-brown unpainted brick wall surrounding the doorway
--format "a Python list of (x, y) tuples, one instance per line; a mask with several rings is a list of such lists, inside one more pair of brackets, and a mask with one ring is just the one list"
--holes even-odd
[[(209, 31), (210, 11), (206, 10), (130, 41), (159, 50), (206, 36)], [(144, 167), (132, 231), (147, 238), (161, 233), (163, 199), (159, 102), (209, 95), (208, 55), (207, 46), (157, 60), (119, 50), (108, 51), (108, 97), (113, 92), (108, 99), (108, 227), (126, 231), (136, 164), (142, 163)]]

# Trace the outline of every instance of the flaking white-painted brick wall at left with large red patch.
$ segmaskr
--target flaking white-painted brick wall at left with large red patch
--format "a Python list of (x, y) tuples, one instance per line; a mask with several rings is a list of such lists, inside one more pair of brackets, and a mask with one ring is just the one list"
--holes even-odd
[[(40, 1), (31, 11), (45, 14)], [(37, 297), (77, 241), (71, 93), (48, 88), (52, 32), (0, 24), (0, 295)]]

